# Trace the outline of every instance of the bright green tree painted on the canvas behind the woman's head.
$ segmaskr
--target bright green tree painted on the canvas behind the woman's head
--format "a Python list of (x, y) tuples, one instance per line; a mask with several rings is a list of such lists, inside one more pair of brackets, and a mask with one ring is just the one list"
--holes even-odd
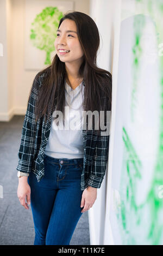
[(51, 52), (55, 50), (54, 41), (57, 37), (59, 20), (63, 13), (57, 7), (46, 7), (37, 14), (30, 29), (32, 44), (41, 51), (46, 52), (44, 64), (51, 64)]

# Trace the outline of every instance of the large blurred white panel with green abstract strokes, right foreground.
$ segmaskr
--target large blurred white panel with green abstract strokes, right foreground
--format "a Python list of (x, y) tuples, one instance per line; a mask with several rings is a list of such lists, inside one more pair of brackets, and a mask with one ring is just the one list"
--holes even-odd
[(162, 17), (162, 0), (122, 0), (110, 211), (116, 245), (163, 245)]

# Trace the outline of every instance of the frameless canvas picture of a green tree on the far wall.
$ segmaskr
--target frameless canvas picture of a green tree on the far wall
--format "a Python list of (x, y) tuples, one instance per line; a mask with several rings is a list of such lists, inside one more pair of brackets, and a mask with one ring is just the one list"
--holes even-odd
[(59, 20), (73, 11), (73, 2), (26, 0), (24, 29), (25, 69), (40, 70), (51, 64), (55, 54)]

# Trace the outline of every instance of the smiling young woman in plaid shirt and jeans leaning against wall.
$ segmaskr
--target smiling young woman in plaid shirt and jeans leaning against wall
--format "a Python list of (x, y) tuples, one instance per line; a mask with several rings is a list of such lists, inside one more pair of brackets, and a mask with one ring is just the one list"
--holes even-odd
[(25, 209), (32, 207), (34, 245), (70, 244), (79, 218), (95, 203), (108, 162), (109, 135), (89, 129), (87, 120), (86, 129), (81, 118), (80, 129), (57, 129), (60, 112), (65, 128), (74, 111), (111, 111), (111, 74), (96, 66), (96, 23), (78, 11), (66, 14), (54, 45), (51, 66), (33, 81), (18, 152), (17, 196)]

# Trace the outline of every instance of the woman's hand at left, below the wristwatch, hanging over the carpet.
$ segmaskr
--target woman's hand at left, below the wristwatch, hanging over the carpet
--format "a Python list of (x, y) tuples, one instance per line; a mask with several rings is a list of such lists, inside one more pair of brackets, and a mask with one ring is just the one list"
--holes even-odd
[(18, 200), (20, 201), (21, 205), (24, 206), (25, 209), (29, 209), (28, 205), (30, 205), (30, 186), (28, 184), (27, 179), (28, 177), (26, 176), (19, 177), (17, 187)]

